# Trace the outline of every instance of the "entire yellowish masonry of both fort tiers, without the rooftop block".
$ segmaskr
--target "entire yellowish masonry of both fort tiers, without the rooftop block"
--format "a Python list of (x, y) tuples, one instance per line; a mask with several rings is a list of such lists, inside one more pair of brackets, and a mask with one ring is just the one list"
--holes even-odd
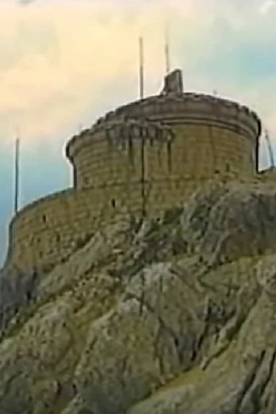
[(119, 214), (180, 206), (206, 179), (257, 177), (261, 122), (246, 106), (170, 92), (121, 106), (72, 137), (73, 188), (12, 219), (6, 264), (52, 266)]

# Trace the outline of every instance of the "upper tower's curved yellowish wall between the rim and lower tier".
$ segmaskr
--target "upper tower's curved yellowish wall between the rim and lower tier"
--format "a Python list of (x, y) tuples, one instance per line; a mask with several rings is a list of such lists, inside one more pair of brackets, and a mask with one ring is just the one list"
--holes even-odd
[(171, 140), (147, 137), (144, 142), (133, 135), (110, 142), (104, 130), (86, 132), (87, 141), (74, 158), (77, 188), (130, 184), (142, 176), (152, 186), (153, 181), (167, 186), (168, 181), (201, 181), (215, 174), (244, 179), (255, 172), (255, 144), (246, 135), (205, 124), (170, 126), (170, 131)]

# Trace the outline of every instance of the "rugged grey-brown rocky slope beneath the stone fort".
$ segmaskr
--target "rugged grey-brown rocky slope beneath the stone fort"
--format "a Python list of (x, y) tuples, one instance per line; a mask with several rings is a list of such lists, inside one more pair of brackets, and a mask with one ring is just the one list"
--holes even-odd
[(1, 275), (0, 414), (276, 413), (276, 190), (211, 184)]

